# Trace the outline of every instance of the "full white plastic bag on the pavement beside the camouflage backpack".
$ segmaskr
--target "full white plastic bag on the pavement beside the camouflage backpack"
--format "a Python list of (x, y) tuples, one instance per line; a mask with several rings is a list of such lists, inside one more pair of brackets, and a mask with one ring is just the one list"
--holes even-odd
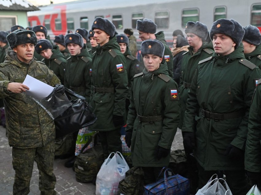
[[(114, 154), (112, 158), (111, 155)], [(129, 170), (127, 162), (120, 152), (112, 152), (103, 162), (96, 178), (96, 195), (117, 195), (119, 182)]]

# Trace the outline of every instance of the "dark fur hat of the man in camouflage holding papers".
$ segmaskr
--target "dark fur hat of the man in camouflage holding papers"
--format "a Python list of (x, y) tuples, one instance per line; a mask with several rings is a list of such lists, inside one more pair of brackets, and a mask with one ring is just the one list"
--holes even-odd
[(32, 43), (34, 46), (37, 44), (35, 33), (26, 29), (18, 29), (14, 32), (11, 32), (6, 36), (6, 39), (11, 49), (14, 49), (17, 45), (25, 43)]

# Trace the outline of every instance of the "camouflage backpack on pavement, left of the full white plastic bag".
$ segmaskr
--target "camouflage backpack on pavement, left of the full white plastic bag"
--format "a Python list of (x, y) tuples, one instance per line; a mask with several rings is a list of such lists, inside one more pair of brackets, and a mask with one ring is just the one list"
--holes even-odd
[[(103, 150), (101, 144), (97, 143), (97, 136), (98, 132), (92, 135), (92, 139), (88, 140), (76, 157), (74, 170), (77, 182), (92, 182), (103, 164)], [(93, 147), (83, 152), (90, 143)]]

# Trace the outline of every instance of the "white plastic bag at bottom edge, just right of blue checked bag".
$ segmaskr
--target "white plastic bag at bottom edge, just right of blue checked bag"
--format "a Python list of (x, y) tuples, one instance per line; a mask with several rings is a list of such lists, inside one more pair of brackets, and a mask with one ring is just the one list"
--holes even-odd
[[(216, 174), (214, 174), (210, 180), (208, 180), (207, 184), (203, 188), (197, 191), (196, 195), (232, 195), (227, 182), (222, 178), (213, 179), (215, 175)], [(220, 180), (224, 181), (227, 189), (223, 187), (223, 185), (220, 183)]]

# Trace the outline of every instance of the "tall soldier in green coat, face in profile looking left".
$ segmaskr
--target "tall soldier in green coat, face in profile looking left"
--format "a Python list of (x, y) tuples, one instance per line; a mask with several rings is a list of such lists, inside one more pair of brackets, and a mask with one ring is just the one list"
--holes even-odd
[(92, 58), (93, 95), (91, 106), (97, 116), (91, 130), (99, 131), (104, 158), (122, 151), (121, 127), (124, 125), (125, 99), (128, 94), (126, 61), (120, 52), (115, 26), (97, 17), (92, 31), (99, 44)]

